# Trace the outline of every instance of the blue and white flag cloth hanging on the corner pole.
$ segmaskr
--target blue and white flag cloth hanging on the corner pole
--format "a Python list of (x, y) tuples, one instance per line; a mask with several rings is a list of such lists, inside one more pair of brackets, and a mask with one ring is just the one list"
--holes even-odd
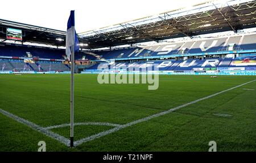
[(77, 39), (76, 30), (75, 30), (75, 11), (71, 11), (70, 13), (70, 16), (68, 19), (67, 35), (66, 35), (66, 55), (69, 61), (71, 59), (73, 45), (75, 45), (75, 52), (78, 52), (79, 41)]

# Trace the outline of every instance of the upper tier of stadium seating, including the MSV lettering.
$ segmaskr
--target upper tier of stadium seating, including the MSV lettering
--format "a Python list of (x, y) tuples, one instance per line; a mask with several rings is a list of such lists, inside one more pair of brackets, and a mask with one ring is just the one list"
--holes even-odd
[[(145, 56), (164, 56), (177, 54), (209, 53), (218, 51), (249, 50), (256, 49), (256, 34), (234, 35), (211, 39), (191, 40), (185, 42), (152, 45), (146, 47), (130, 47), (105, 51), (88, 51), (76, 53), (75, 59), (85, 57), (88, 60), (112, 60), (115, 58), (131, 58)], [(230, 48), (229, 48), (230, 47)], [(0, 56), (27, 57), (27, 53), (33, 57), (65, 59), (64, 49), (39, 48), (27, 45), (6, 44), (0, 46)]]

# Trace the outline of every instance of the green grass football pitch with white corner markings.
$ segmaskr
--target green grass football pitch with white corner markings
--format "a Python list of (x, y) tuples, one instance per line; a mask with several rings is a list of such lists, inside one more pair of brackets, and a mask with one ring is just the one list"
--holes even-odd
[(255, 76), (159, 76), (99, 84), (75, 75), (75, 148), (68, 147), (69, 74), (0, 75), (0, 151), (256, 151)]

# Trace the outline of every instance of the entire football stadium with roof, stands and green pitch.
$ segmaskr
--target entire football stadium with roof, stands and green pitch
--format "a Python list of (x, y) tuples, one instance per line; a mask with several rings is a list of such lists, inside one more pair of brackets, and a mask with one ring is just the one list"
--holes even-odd
[(80, 32), (75, 64), (67, 31), (0, 18), (0, 151), (255, 152), (255, 7), (207, 1)]

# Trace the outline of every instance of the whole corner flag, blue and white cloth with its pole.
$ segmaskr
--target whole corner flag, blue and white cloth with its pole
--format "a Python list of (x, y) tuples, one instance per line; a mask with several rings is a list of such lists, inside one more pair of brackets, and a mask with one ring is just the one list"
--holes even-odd
[(71, 11), (66, 35), (66, 55), (68, 60), (71, 61), (70, 147), (74, 146), (74, 69), (75, 52), (77, 51), (79, 51), (79, 41), (75, 30), (75, 11)]

